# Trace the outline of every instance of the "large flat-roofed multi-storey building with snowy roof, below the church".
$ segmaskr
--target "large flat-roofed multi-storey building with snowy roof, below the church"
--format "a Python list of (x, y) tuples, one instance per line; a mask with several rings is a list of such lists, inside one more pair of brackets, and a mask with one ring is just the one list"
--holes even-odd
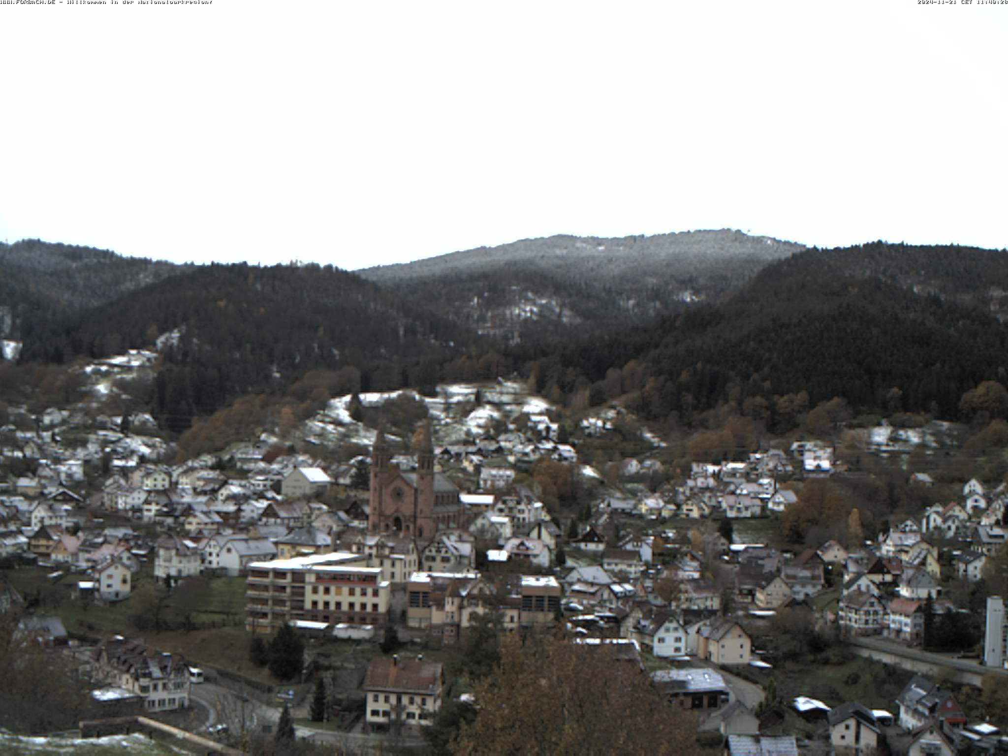
[(245, 627), (271, 633), (295, 620), (383, 625), (390, 584), (364, 554), (335, 552), (254, 561), (245, 584)]

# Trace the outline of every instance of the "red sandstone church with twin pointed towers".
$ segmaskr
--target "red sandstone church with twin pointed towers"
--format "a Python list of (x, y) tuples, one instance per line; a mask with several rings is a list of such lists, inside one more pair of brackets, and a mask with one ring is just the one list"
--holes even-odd
[(421, 431), (415, 472), (402, 472), (389, 457), (385, 433), (379, 428), (371, 450), (369, 532), (427, 542), (439, 530), (469, 526), (472, 515), (465, 511), (458, 487), (434, 472), (429, 424)]

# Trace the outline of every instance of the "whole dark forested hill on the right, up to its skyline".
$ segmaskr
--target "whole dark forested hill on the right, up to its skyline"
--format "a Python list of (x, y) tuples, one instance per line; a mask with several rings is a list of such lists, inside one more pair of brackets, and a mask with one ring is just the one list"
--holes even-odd
[(553, 351), (595, 382), (641, 363), (651, 418), (755, 397), (772, 412), (774, 397), (802, 391), (812, 406), (842, 396), (862, 410), (949, 418), (965, 391), (1008, 378), (1008, 327), (996, 317), (1005, 290), (1003, 252), (811, 250), (768, 265), (720, 303)]

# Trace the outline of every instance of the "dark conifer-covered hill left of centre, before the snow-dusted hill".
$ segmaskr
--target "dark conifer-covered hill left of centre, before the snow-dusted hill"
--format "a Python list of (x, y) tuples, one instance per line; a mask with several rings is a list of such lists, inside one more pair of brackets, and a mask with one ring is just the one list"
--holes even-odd
[(332, 266), (209, 265), (37, 328), (22, 361), (107, 357), (165, 334), (153, 409), (171, 429), (313, 368), (357, 366), (398, 386), (404, 365), (468, 343), (455, 324)]

